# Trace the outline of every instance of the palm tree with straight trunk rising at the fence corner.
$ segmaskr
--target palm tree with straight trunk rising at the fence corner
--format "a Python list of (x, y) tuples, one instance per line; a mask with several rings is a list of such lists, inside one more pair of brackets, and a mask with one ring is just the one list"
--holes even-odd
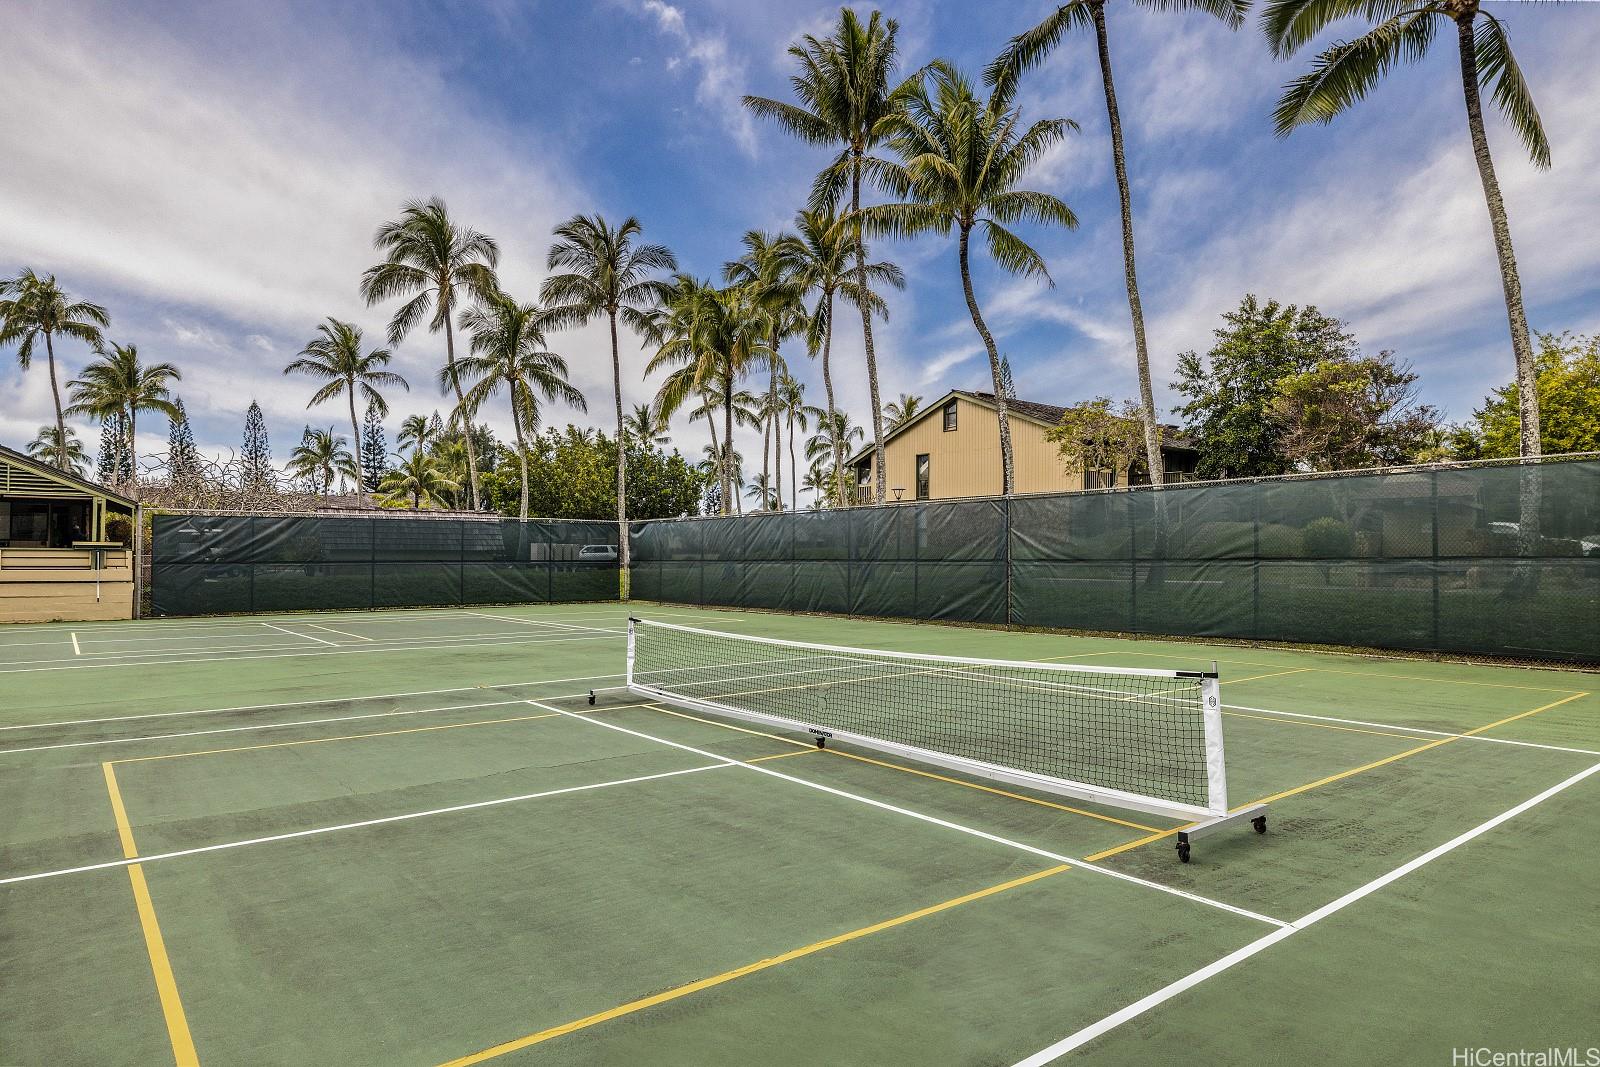
[[(634, 333), (650, 331), (650, 310), (670, 291), (659, 275), (677, 270), (678, 261), (666, 245), (638, 243), (643, 227), (629, 216), (613, 227), (602, 216), (574, 214), (555, 227), (555, 243), (546, 266), (539, 299), (550, 304), (554, 325), (579, 326), (605, 315), (611, 326), (611, 384), (616, 400), (616, 438), (622, 440), (622, 354), (616, 323), (621, 318)], [(622, 531), (621, 568), (627, 574), (627, 450), (616, 450), (616, 522)]]

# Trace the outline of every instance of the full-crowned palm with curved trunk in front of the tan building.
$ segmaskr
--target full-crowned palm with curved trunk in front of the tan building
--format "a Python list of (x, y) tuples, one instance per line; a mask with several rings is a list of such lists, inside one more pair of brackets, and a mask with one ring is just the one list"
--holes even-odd
[(904, 200), (862, 208), (861, 214), (874, 229), (896, 237), (957, 230), (962, 291), (973, 326), (989, 352), (994, 379), (1000, 419), (1000, 491), (1010, 496), (1014, 469), (1005, 378), (1000, 350), (973, 293), (971, 234), (981, 227), (989, 254), (1011, 274), (1050, 282), (1043, 258), (1006, 224), (1078, 224), (1058, 197), (1016, 187), (1027, 168), (1075, 125), (1066, 118), (1042, 118), (1019, 130), (1022, 115), (1011, 102), (1010, 83), (997, 85), (987, 101), (979, 101), (971, 82), (942, 61), (931, 64), (931, 80), (933, 93), (918, 85), (904, 115), (890, 123), (890, 146), (901, 163), (883, 162), (878, 166), (883, 184)]

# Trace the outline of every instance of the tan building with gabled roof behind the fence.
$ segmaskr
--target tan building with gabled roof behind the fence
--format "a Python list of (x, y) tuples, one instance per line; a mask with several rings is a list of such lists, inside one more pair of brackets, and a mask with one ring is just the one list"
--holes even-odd
[[(1064, 493), (1128, 485), (1130, 472), (1082, 470), (1067, 466), (1045, 432), (1061, 422), (1067, 408), (1032, 400), (1008, 400), (1011, 461), (1016, 493)], [(870, 501), (872, 445), (850, 458), (856, 499)], [(952, 389), (936, 403), (901, 422), (883, 438), (888, 499), (939, 501), (958, 496), (1000, 494), (1000, 419), (994, 394)], [(1176, 427), (1162, 427), (1162, 461), (1166, 482), (1194, 478), (1198, 453)], [(1147, 483), (1134, 470), (1131, 483)]]

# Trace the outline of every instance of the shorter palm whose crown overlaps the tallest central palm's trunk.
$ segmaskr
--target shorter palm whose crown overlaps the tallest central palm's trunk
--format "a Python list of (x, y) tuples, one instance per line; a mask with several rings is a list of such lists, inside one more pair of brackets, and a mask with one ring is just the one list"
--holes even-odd
[[(814, 357), (822, 354), (822, 390), (827, 394), (827, 411), (837, 411), (834, 402), (834, 374), (830, 352), (834, 346), (834, 298), (838, 296), (846, 304), (866, 307), (872, 314), (886, 317), (888, 306), (872, 288), (886, 285), (896, 290), (906, 288), (906, 275), (898, 266), (888, 261), (869, 262), (866, 266), (867, 285), (858, 282), (851, 267), (856, 251), (861, 248), (859, 234), (853, 224), (843, 224), (832, 211), (802, 211), (795, 216), (798, 235), (784, 245), (782, 254), (787, 258), (786, 270), (792, 285), (802, 298), (816, 296), (816, 304), (806, 318), (806, 347)], [(834, 474), (843, 477), (843, 458), (834, 456)], [(837, 498), (843, 498), (845, 486), (837, 486)]]

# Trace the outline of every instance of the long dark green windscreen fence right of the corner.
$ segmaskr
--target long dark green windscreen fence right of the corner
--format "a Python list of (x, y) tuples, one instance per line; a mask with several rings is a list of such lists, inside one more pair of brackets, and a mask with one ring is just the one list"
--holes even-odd
[(1600, 461), (635, 523), (642, 600), (1600, 661)]

